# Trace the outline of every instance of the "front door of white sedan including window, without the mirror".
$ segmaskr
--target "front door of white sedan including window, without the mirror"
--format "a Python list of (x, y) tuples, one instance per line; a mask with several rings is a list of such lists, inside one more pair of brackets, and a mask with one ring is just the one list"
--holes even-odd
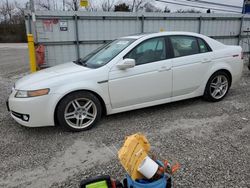
[(136, 66), (120, 70), (114, 66), (109, 73), (112, 108), (121, 108), (166, 99), (172, 92), (172, 63), (167, 59), (164, 37), (143, 41), (125, 58), (135, 59)]

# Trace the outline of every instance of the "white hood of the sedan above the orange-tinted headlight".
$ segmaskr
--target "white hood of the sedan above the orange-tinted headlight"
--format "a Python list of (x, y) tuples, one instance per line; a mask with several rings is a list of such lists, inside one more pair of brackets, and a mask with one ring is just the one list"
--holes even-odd
[(38, 72), (24, 76), (15, 83), (15, 89), (23, 89), (26, 86), (37, 84), (41, 81), (49, 81), (52, 78), (66, 76), (68, 74), (89, 71), (90, 68), (77, 65), (73, 62), (64, 63), (51, 68), (43, 69)]

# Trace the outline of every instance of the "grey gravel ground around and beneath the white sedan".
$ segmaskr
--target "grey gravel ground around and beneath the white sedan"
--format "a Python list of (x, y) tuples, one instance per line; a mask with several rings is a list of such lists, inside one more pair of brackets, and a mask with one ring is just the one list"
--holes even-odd
[(177, 187), (250, 187), (247, 68), (221, 102), (196, 98), (116, 114), (88, 132), (70, 133), (60, 127), (24, 128), (6, 112), (13, 82), (28, 71), (27, 57), (25, 45), (0, 45), (0, 187), (77, 187), (100, 174), (121, 180), (125, 172), (116, 149), (136, 132), (147, 135), (158, 156), (181, 164)]

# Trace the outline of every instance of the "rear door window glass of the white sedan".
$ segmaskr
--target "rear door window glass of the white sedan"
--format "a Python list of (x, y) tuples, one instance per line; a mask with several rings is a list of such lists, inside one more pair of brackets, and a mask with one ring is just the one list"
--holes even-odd
[(191, 36), (170, 36), (174, 56), (182, 57), (199, 53), (197, 39)]

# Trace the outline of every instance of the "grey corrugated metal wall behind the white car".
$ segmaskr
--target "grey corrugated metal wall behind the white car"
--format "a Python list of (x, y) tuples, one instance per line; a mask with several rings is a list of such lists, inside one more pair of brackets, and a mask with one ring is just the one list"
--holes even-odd
[(249, 51), (244, 31), (250, 30), (250, 16), (241, 14), (40, 11), (32, 24), (27, 13), (27, 31), (32, 31), (37, 44), (45, 45), (47, 66), (83, 57), (117, 37), (161, 29), (201, 33)]

